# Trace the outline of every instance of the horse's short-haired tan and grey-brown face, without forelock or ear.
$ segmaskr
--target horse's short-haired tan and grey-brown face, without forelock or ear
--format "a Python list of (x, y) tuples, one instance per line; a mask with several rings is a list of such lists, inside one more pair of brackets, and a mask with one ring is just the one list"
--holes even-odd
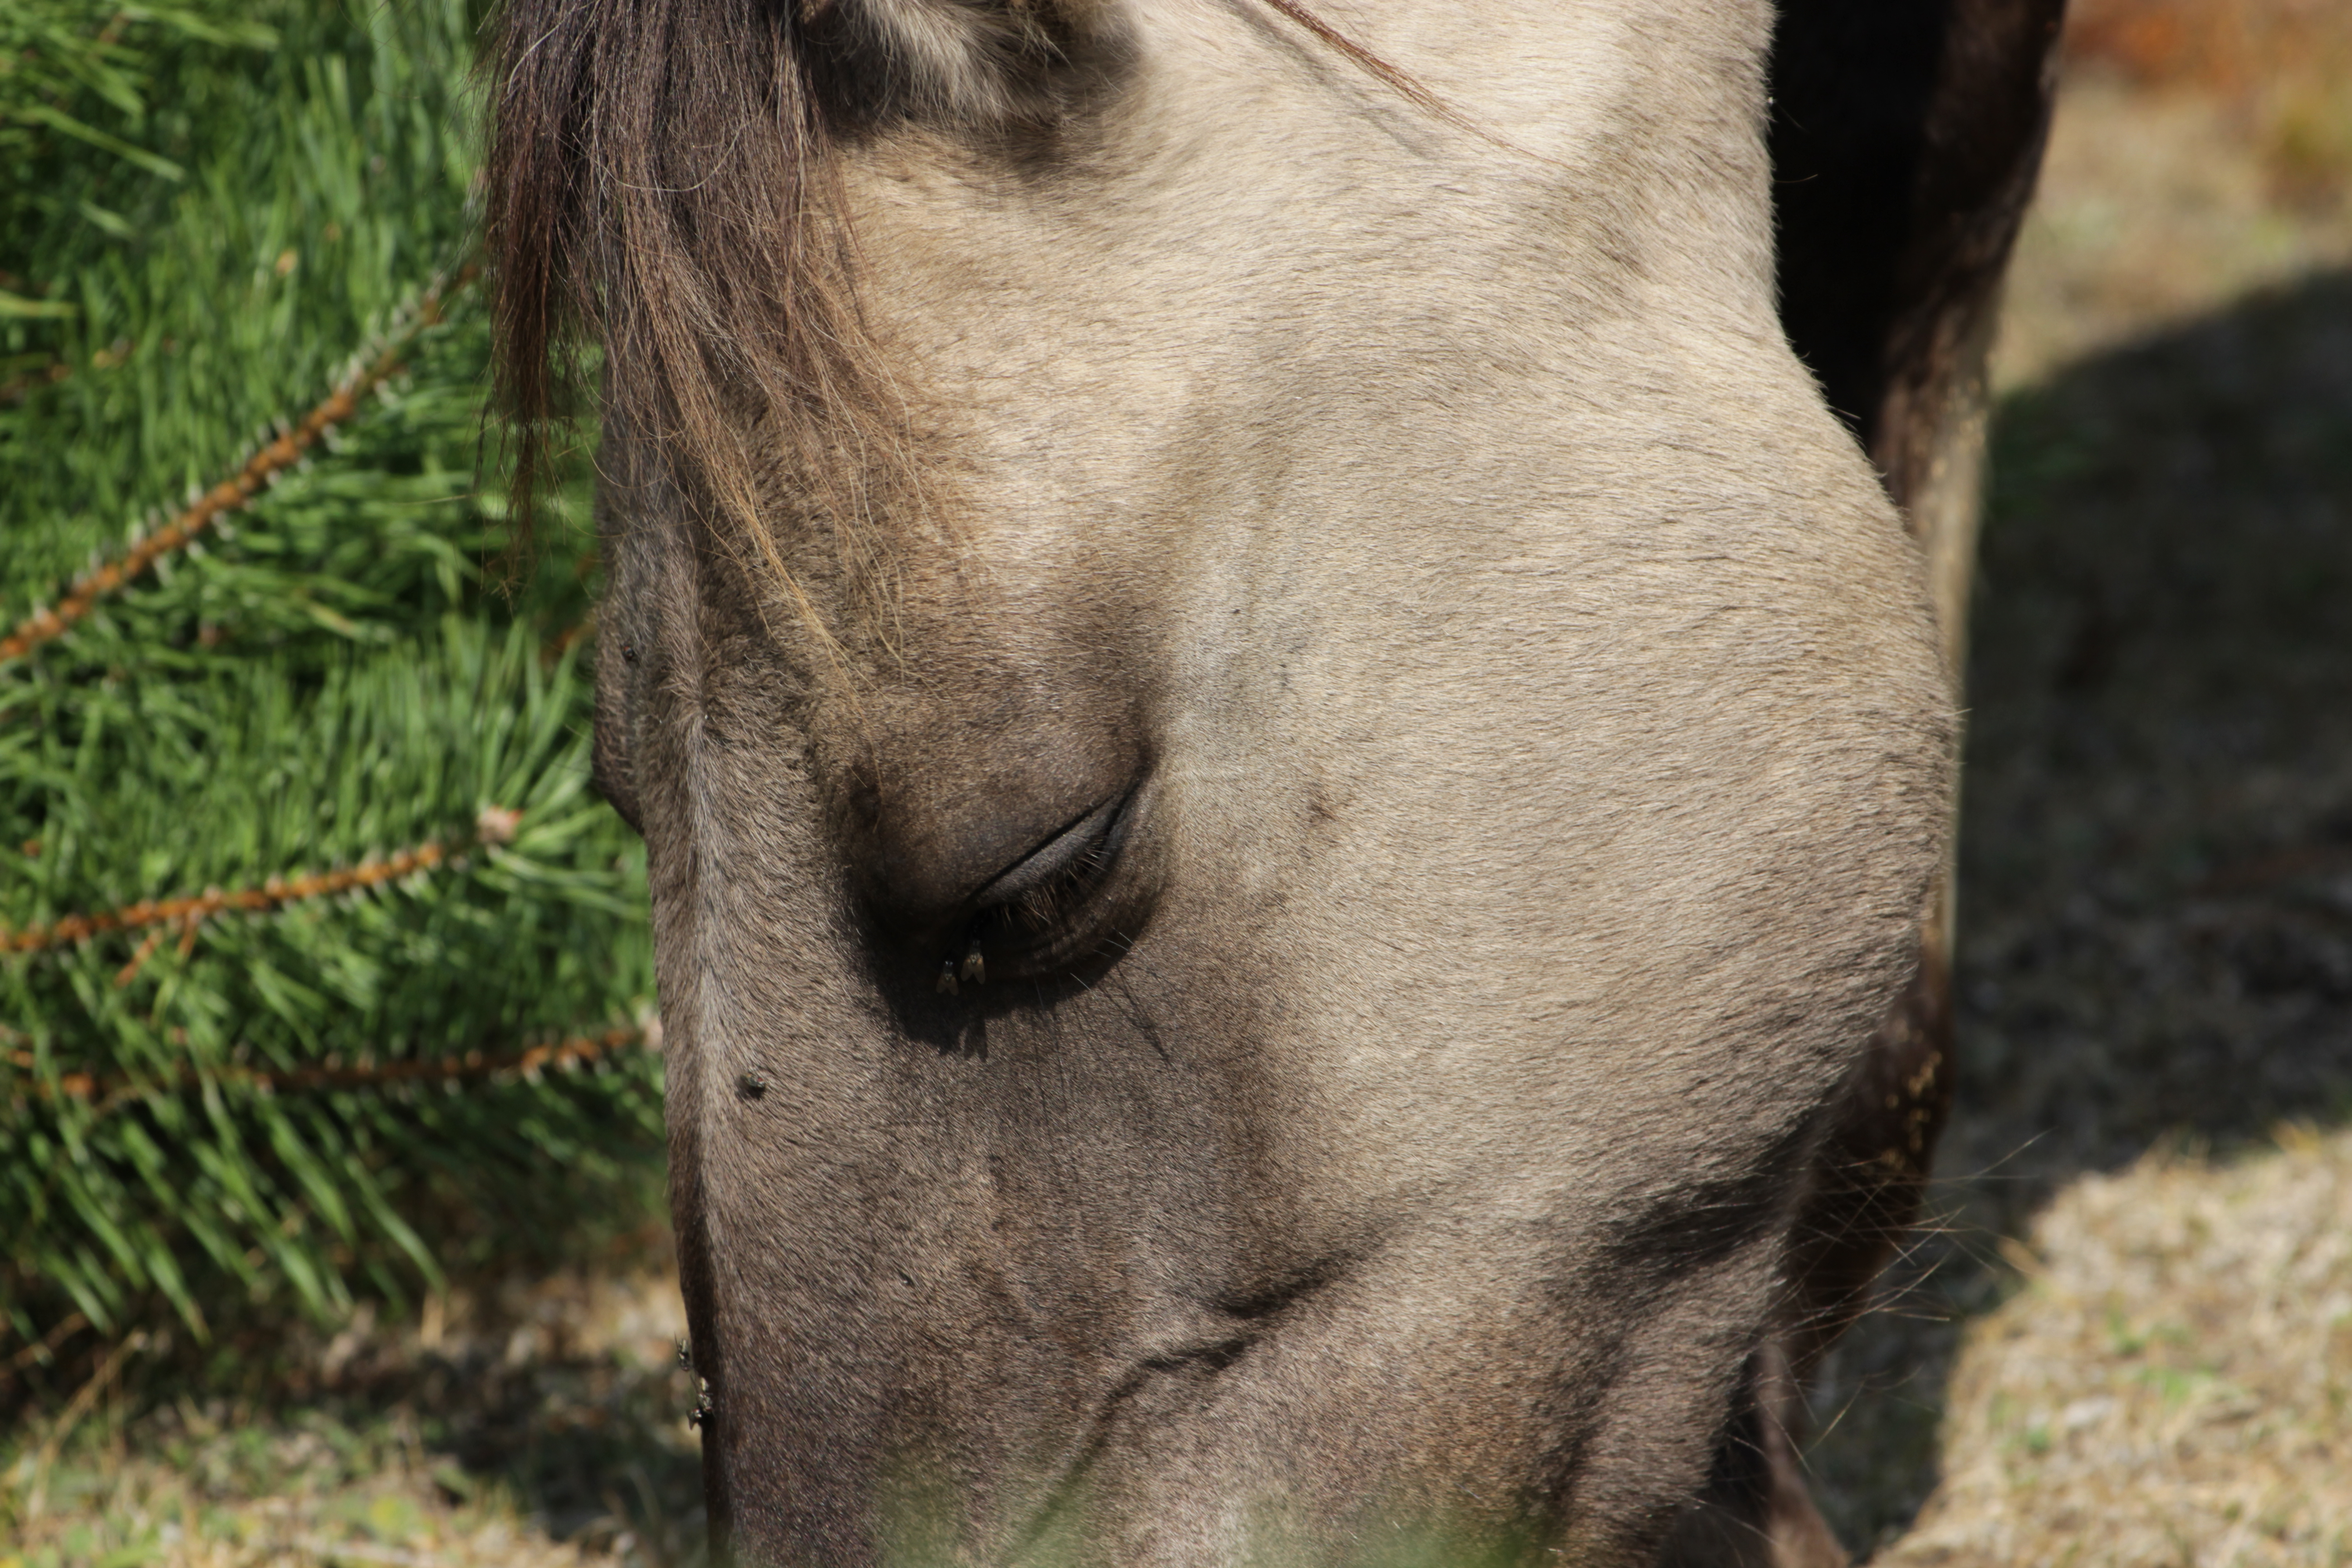
[(1642, 1561), (1950, 790), (1915, 550), (1773, 322), (1769, 12), (1334, 7), (1482, 139), (1096, 9), (1049, 153), (840, 148), (922, 433), (887, 628), (607, 435), (715, 1512), (757, 1563)]

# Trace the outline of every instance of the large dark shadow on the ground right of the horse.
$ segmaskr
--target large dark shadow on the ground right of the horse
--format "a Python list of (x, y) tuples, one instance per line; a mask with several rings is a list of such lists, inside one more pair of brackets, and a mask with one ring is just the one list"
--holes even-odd
[(2004, 400), (1992, 463), (1943, 1234), (1816, 1399), (1856, 1547), (1933, 1486), (1959, 1324), (2060, 1182), (2352, 1119), (2352, 273)]

